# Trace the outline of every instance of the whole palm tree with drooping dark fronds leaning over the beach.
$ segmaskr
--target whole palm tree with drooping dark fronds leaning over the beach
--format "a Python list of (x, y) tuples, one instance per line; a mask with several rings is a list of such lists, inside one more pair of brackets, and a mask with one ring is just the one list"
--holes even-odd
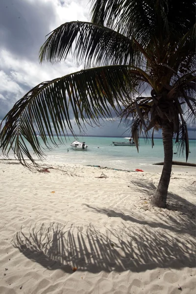
[(73, 132), (71, 111), (81, 130), (114, 110), (130, 123), (137, 148), (142, 130), (152, 129), (153, 145), (154, 129), (162, 129), (164, 166), (151, 203), (166, 207), (173, 136), (188, 158), (187, 121), (196, 116), (195, 1), (93, 0), (91, 17), (52, 31), (39, 57), (60, 62), (72, 53), (85, 69), (40, 83), (20, 99), (3, 120), (0, 147), (5, 154), (13, 149), (25, 166), (24, 156), (36, 164), (25, 139), (43, 158), (37, 131), (52, 148), (53, 131), (60, 143)]

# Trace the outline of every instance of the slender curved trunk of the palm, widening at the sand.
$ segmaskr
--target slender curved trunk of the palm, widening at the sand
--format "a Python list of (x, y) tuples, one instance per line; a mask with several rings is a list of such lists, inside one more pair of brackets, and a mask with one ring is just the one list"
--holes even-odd
[(163, 147), (164, 147), (164, 165), (161, 178), (156, 191), (151, 199), (151, 204), (158, 207), (166, 207), (166, 200), (168, 195), (168, 187), (170, 184), (170, 177), (172, 172), (172, 158), (173, 158), (173, 132), (170, 125), (163, 125), (162, 128)]

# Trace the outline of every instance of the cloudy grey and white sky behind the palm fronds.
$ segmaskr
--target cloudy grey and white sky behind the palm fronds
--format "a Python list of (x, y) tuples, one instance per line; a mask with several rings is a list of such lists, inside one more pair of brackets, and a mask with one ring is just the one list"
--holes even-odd
[[(70, 21), (89, 21), (89, 0), (0, 0), (0, 120), (31, 88), (82, 69), (65, 63), (38, 62), (45, 36)], [(128, 136), (118, 122), (89, 128), (89, 135)], [(190, 133), (195, 138), (195, 132)]]

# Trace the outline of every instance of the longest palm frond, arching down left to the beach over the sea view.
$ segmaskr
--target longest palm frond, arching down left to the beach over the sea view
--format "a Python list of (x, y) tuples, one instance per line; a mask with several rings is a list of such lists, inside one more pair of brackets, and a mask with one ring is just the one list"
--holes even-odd
[(111, 118), (111, 110), (120, 111), (120, 101), (135, 87), (138, 77), (141, 79), (141, 73), (129, 66), (107, 66), (82, 70), (37, 85), (4, 118), (0, 148), (4, 154), (11, 148), (25, 166), (28, 166), (25, 156), (35, 164), (26, 142), (42, 158), (44, 150), (36, 132), (47, 148), (57, 146), (56, 141), (63, 144), (61, 135), (65, 136), (67, 130), (73, 133), (72, 117), (79, 129), (83, 123), (98, 124), (100, 118)]

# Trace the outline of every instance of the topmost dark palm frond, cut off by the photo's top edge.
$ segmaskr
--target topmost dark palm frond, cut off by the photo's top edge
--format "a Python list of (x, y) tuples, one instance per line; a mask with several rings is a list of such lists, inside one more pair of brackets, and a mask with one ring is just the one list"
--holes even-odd
[[(134, 13), (133, 13), (134, 11)], [(125, 36), (133, 36), (138, 42), (149, 42), (150, 25), (149, 15), (152, 10), (145, 1), (107, 0), (92, 2), (92, 22), (117, 29)], [(146, 38), (146, 40), (145, 40)]]

